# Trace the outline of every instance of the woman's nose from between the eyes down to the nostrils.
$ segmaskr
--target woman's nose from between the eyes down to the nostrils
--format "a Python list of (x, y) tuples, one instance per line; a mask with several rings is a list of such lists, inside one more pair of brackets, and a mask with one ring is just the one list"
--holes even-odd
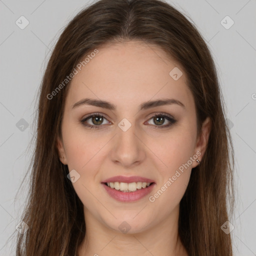
[(141, 141), (137, 138), (139, 131), (136, 129), (135, 123), (123, 118), (118, 123), (116, 132), (111, 152), (112, 160), (126, 167), (142, 161), (145, 152)]

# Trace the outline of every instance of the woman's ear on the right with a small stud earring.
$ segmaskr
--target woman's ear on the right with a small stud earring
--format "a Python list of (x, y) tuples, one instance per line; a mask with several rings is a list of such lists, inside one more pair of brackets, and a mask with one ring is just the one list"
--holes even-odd
[[(196, 146), (194, 149), (194, 154), (198, 155), (197, 159), (199, 161), (201, 161), (206, 151), (210, 130), (211, 130), (211, 121), (210, 121), (210, 118), (207, 117), (202, 123), (202, 132), (201, 132), (201, 135), (198, 136), (197, 138)], [(198, 165), (198, 163), (194, 161), (192, 164), (192, 168), (195, 167), (196, 165)]]

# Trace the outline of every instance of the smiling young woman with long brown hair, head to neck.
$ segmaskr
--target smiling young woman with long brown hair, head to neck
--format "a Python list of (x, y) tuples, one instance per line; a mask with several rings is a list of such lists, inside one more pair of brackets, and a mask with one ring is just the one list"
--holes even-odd
[(221, 226), (233, 149), (215, 66), (169, 4), (100, 0), (69, 22), (36, 138), (17, 255), (232, 255)]

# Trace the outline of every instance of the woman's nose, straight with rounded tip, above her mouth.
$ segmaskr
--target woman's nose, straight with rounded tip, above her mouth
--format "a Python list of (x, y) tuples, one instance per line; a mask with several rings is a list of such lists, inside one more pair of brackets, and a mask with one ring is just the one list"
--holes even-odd
[(135, 124), (131, 124), (127, 130), (118, 126), (116, 132), (110, 152), (111, 160), (125, 168), (132, 168), (140, 164), (145, 159), (146, 152), (145, 145), (142, 142), (143, 138), (136, 130)]

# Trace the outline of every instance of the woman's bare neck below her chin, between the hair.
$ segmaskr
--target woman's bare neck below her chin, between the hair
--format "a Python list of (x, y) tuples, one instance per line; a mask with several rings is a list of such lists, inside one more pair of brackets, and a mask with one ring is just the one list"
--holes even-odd
[(178, 236), (178, 207), (164, 221), (134, 233), (113, 230), (99, 222), (86, 209), (84, 216), (86, 235), (76, 256), (188, 256)]

